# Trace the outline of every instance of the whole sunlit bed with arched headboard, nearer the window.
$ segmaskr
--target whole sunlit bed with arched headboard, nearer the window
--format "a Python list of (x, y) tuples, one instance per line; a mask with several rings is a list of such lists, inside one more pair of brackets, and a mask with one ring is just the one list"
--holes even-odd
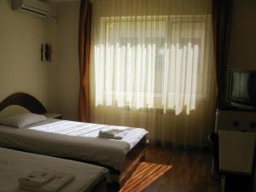
[[(0, 112), (13, 105), (46, 113), (41, 102), (25, 93), (7, 97), (0, 103)], [(120, 141), (97, 137), (106, 126), (60, 119), (46, 119), (22, 129), (0, 125), (0, 146), (104, 166), (110, 171), (108, 184), (119, 189), (143, 160), (148, 131), (132, 128)]]

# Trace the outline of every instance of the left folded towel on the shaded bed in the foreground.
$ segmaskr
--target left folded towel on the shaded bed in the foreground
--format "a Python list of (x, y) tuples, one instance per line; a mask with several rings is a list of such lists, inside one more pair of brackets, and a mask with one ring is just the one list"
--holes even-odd
[(55, 174), (45, 171), (35, 171), (29, 173), (26, 177), (20, 177), (19, 183), (32, 187), (41, 187), (55, 177)]

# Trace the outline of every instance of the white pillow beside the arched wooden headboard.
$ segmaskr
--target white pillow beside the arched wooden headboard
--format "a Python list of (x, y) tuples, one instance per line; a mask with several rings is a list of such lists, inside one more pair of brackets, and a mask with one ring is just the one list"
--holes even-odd
[(0, 124), (2, 125), (10, 125), (16, 128), (23, 128), (26, 125), (32, 125), (38, 123), (40, 121), (45, 120), (46, 117), (42, 114), (35, 113), (21, 113), (13, 116), (9, 116), (7, 118), (0, 119)]

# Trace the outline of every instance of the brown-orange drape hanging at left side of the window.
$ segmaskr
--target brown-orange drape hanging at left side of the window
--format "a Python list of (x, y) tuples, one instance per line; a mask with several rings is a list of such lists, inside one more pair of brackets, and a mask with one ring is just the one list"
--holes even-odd
[(91, 9), (90, 0), (81, 1), (79, 21), (79, 119), (82, 122), (90, 122), (89, 69)]

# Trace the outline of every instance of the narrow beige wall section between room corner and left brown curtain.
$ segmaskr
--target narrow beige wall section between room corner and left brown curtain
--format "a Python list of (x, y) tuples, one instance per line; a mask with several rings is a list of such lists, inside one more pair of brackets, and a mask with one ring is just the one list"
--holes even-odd
[(79, 2), (58, 3), (58, 61), (49, 70), (49, 110), (64, 119), (78, 119), (79, 104)]

